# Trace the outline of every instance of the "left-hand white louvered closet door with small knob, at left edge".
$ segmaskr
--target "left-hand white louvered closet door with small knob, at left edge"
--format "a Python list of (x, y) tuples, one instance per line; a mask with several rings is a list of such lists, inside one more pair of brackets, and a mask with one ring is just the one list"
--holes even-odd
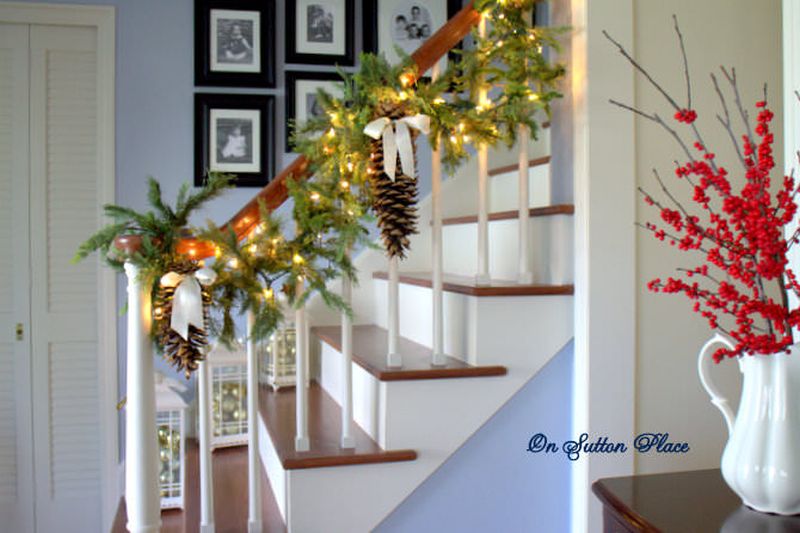
[[(28, 26), (0, 24), (0, 532), (33, 531)], [(17, 340), (17, 324), (23, 335)]]

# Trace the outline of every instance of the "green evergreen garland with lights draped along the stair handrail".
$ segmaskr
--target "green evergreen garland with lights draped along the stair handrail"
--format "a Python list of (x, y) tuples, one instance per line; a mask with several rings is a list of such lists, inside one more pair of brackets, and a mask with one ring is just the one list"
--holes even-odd
[[(427, 115), (429, 141), (440, 148), (448, 172), (468, 159), (470, 146), (513, 145), (520, 126), (536, 138), (540, 120), (549, 118), (550, 103), (561, 96), (557, 85), (565, 70), (543, 54), (544, 48), (558, 49), (557, 36), (564, 30), (530, 28), (525, 18), (533, 7), (533, 0), (477, 1), (475, 8), (488, 18), (486, 35), (473, 31), (473, 46), (457, 51), (457, 60), (435, 81), (414, 83), (419, 73), (409, 57), (390, 65), (382, 56), (362, 54), (358, 72), (341, 73), (341, 97), (320, 91), (324, 115), (293, 127), (293, 143), (309, 160), (313, 175), (286, 182), (294, 200), (294, 238), (283, 235), (282, 224), (263, 205), (262, 223), (241, 242), (233, 231), (212, 223), (204, 229), (190, 228), (191, 214), (229, 188), (231, 176), (210, 173), (193, 194), (184, 185), (174, 208), (163, 201), (158, 182), (150, 178), (152, 209), (139, 213), (105, 206), (113, 222), (83, 243), (75, 260), (99, 251), (117, 270), (132, 262), (156, 290), (157, 280), (171, 265), (186, 261), (177, 252), (182, 238), (193, 235), (212, 243), (217, 250), (213, 263), (217, 280), (209, 290), (213, 305), (221, 310), (212, 331), (226, 344), (236, 338), (237, 312), (252, 313), (255, 340), (272, 333), (283, 317), (275, 295), (279, 285), (289, 305), (300, 306), (318, 293), (327, 305), (349, 313), (327, 284), (340, 276), (354, 280), (350, 250), (373, 246), (367, 231), (372, 222), (372, 140), (364, 128), (386, 103), (402, 104), (409, 115)], [(141, 249), (122, 255), (113, 247), (120, 235), (141, 236)]]

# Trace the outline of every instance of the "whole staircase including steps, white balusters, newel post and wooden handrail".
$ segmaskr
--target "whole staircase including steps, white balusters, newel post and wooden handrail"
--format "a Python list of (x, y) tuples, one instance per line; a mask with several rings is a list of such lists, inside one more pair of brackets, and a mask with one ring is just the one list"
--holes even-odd
[[(419, 72), (474, 26), (485, 30), (484, 22), (471, 4), (464, 7), (412, 55)], [(574, 209), (552, 202), (549, 134), (540, 133), (529, 142), (521, 129), (512, 150), (480, 146), (479, 157), (444, 181), (432, 154), (433, 192), (419, 203), (420, 233), (409, 257), (399, 267), (390, 261), (387, 272), (382, 252), (363, 251), (354, 260), (360, 285), (352, 294), (349, 283), (330, 287), (350, 301), (354, 325), (320, 301), (296, 310), (296, 387), (256, 386), (256, 350), (248, 341), (248, 420), (255, 422), (248, 531), (266, 525), (259, 467), (289, 532), (374, 529), (570, 341)], [(298, 157), (227, 228), (247, 236), (261, 221), (259, 202), (276, 209), (287, 199), (287, 180), (309, 172), (309, 161)], [(128, 253), (141, 244), (135, 235), (116, 242)], [(191, 237), (178, 252), (214, 254), (210, 243)], [(133, 265), (126, 271), (128, 372), (135, 376), (128, 387), (126, 501), (131, 531), (153, 533), (149, 292)], [(202, 388), (200, 394), (208, 396)], [(214, 531), (207, 433), (201, 424), (204, 532)]]

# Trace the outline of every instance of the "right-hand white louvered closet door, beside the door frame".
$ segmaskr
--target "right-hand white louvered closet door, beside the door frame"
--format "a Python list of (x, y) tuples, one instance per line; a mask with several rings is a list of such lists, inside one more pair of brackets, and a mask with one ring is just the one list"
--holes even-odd
[[(97, 34), (30, 27), (31, 351), (36, 531), (101, 531)], [(111, 355), (113, 356), (113, 355)]]

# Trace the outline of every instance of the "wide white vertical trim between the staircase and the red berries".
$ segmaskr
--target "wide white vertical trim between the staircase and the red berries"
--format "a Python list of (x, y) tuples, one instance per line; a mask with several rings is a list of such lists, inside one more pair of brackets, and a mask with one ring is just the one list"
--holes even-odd
[[(565, 0), (575, 185), (575, 369), (573, 435), (629, 441), (635, 425), (636, 160), (633, 70), (602, 35), (633, 44), (633, 0)], [(567, 120), (566, 118), (564, 120)], [(584, 455), (573, 464), (572, 531), (600, 531), (598, 478), (629, 475), (632, 454)]]

